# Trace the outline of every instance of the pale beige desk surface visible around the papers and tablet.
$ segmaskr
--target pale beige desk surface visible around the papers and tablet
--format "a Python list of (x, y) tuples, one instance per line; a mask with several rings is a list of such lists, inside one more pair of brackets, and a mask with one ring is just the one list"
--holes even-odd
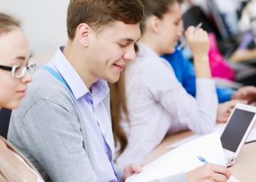
[[(146, 160), (143, 162), (143, 165), (148, 164), (149, 162), (157, 159), (158, 157), (165, 154), (171, 149), (167, 149), (167, 146), (171, 143), (186, 138), (193, 133), (190, 131), (179, 132), (176, 135), (170, 135), (165, 138), (165, 140), (156, 148), (151, 154), (146, 157)], [(229, 167), (232, 175), (238, 180), (243, 182), (255, 182), (256, 181), (256, 142), (247, 143), (241, 150), (238, 159), (236, 160), (235, 165)]]

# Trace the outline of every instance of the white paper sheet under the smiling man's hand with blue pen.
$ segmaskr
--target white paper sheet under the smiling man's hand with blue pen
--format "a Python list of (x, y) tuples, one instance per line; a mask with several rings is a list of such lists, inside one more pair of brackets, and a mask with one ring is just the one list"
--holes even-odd
[(167, 152), (144, 167), (141, 173), (127, 178), (127, 182), (146, 182), (181, 172), (187, 173), (203, 165), (198, 156), (214, 164), (226, 164), (218, 132), (205, 135)]

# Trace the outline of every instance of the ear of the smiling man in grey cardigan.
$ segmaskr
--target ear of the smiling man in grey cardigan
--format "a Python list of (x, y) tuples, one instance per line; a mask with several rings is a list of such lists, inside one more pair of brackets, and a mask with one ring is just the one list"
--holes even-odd
[(91, 27), (86, 23), (80, 23), (76, 30), (78, 41), (83, 47), (89, 46)]

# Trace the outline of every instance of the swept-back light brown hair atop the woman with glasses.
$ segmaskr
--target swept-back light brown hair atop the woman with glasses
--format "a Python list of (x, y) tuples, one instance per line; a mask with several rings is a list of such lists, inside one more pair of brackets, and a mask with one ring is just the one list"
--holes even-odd
[(14, 28), (19, 28), (20, 23), (10, 15), (6, 15), (0, 12), (0, 35), (2, 33), (8, 33)]

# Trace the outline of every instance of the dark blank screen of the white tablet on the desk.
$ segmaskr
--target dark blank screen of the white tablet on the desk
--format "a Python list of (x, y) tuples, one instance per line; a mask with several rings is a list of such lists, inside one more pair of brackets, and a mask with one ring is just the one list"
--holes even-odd
[(244, 111), (239, 108), (236, 108), (235, 111), (233, 111), (233, 115), (230, 117), (230, 121), (227, 123), (227, 126), (220, 138), (224, 149), (236, 153), (236, 150), (238, 149), (238, 146), (254, 116), (255, 113)]

